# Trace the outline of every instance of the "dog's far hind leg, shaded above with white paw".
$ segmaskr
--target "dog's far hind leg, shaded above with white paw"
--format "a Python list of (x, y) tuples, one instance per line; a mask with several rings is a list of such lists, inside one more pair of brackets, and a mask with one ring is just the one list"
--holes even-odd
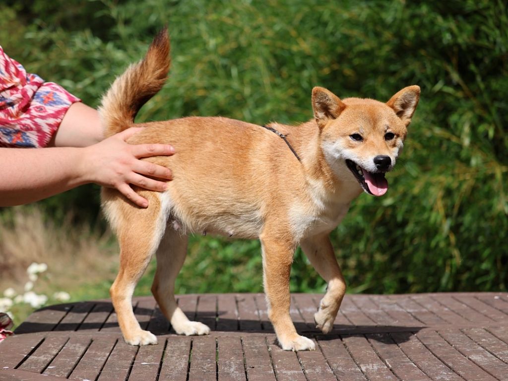
[(177, 306), (175, 300), (175, 279), (187, 255), (186, 235), (168, 227), (161, 240), (156, 256), (157, 270), (152, 284), (152, 294), (161, 311), (180, 335), (207, 335), (210, 328), (199, 322), (191, 322)]

